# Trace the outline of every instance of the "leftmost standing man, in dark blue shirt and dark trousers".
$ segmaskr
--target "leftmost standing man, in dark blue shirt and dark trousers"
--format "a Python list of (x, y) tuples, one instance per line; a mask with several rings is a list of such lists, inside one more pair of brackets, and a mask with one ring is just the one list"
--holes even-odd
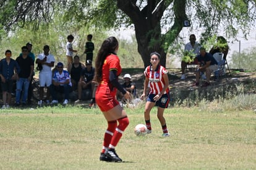
[(12, 89), (17, 73), (20, 72), (20, 67), (17, 62), (11, 58), (12, 51), (6, 50), (6, 58), (0, 61), (0, 77), (2, 87), (2, 109), (9, 108), (11, 104)]

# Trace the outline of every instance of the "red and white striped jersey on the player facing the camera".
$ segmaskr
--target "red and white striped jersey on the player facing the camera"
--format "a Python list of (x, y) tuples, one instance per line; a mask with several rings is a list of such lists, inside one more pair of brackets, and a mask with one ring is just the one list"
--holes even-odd
[[(152, 70), (152, 66), (148, 66), (145, 71), (144, 75), (149, 79), (149, 85), (150, 85), (150, 94), (158, 95), (161, 93), (161, 90), (163, 90), (163, 87), (165, 85), (163, 75), (168, 74), (168, 70), (166, 70), (163, 66), (158, 65), (156, 67), (156, 70)], [(164, 91), (165, 93), (169, 93), (169, 88), (166, 88)]]

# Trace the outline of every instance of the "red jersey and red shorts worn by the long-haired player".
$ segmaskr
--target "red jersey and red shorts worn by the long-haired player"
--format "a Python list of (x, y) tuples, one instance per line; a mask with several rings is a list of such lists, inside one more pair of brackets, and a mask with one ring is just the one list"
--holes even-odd
[(96, 91), (95, 99), (101, 111), (108, 111), (109, 109), (114, 108), (114, 106), (119, 104), (119, 101), (116, 100), (117, 88), (115, 88), (109, 82), (110, 70), (116, 70), (117, 76), (119, 76), (122, 71), (119, 57), (117, 57), (115, 54), (110, 54), (106, 57), (102, 67), (101, 82), (98, 85)]

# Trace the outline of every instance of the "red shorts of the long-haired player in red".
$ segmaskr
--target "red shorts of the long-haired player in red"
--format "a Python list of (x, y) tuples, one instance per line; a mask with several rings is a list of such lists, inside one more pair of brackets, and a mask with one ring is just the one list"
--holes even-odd
[(96, 93), (95, 100), (100, 110), (104, 112), (109, 111), (119, 104), (115, 96), (106, 95), (105, 93)]

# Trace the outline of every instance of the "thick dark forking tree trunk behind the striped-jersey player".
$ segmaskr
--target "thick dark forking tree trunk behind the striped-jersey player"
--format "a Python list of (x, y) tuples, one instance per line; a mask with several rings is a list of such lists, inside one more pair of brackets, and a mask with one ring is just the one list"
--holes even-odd
[[(127, 14), (135, 27), (135, 36), (138, 43), (138, 52), (142, 57), (144, 67), (150, 65), (150, 53), (157, 52), (161, 55), (160, 64), (166, 67), (166, 52), (163, 45), (166, 41), (166, 35), (171, 34), (169, 44), (179, 35), (183, 27), (186, 16), (186, 0), (173, 1), (155, 1), (148, 0), (147, 6), (139, 9), (136, 6), (137, 1), (118, 0), (117, 7)], [(174, 24), (171, 30), (165, 35), (161, 35), (161, 17), (165, 9), (174, 2)]]

